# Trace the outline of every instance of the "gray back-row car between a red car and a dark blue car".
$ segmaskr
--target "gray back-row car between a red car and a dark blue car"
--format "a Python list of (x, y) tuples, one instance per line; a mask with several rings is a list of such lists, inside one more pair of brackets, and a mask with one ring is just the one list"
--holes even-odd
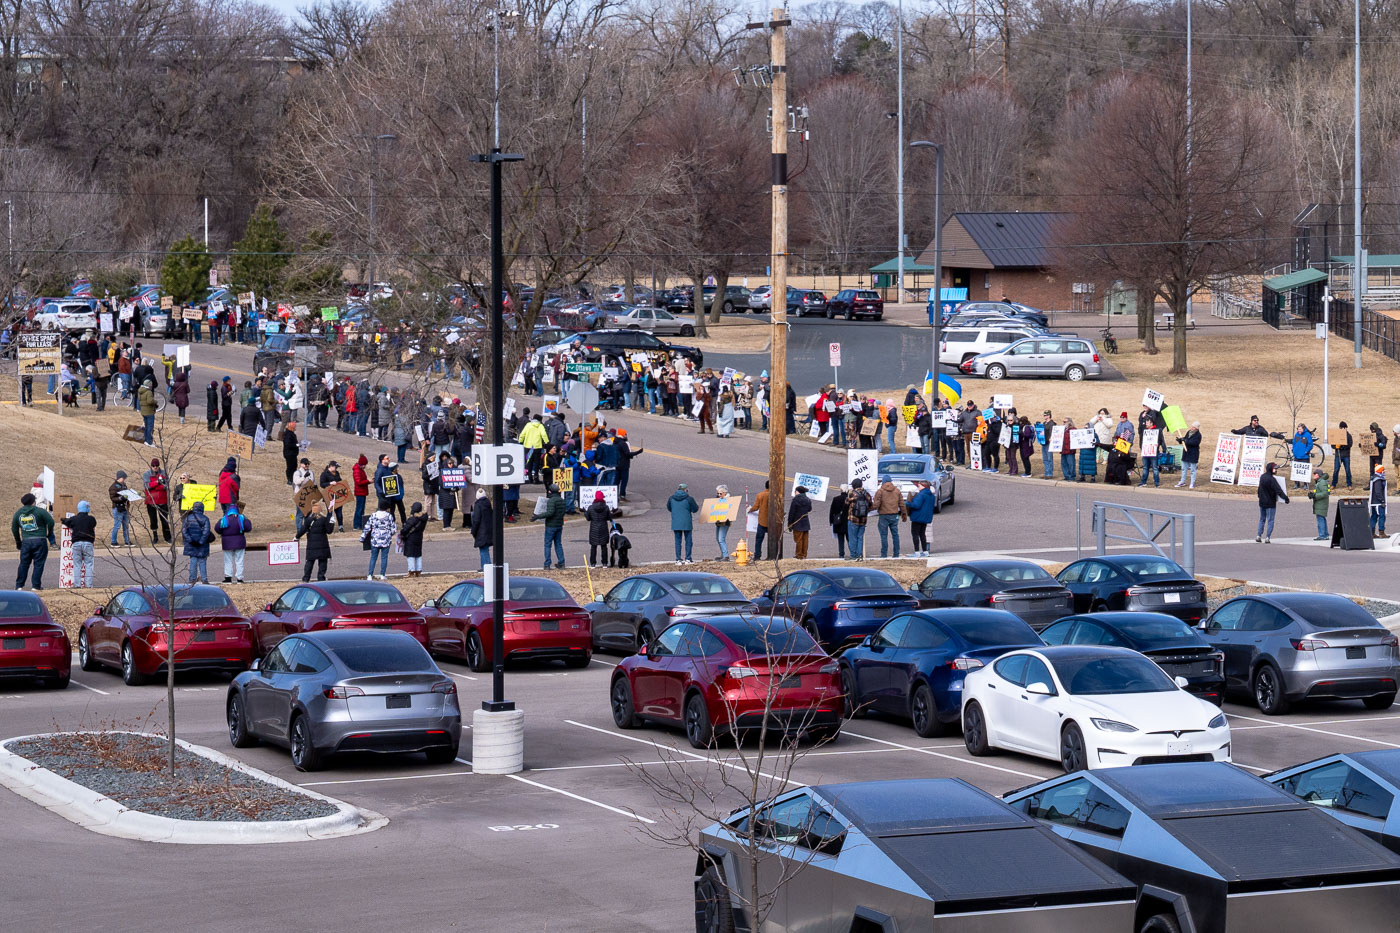
[(717, 573), (640, 573), (584, 607), (595, 650), (636, 651), (678, 616), (741, 612), (753, 602)]

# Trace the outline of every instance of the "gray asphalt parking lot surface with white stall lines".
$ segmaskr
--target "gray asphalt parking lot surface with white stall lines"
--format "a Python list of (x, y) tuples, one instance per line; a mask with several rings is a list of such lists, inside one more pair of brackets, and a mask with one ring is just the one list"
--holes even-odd
[[(701, 821), (690, 807), (666, 804), (657, 790), (678, 789), (704, 811), (721, 813), (742, 799), (722, 786), (720, 773), (743, 778), (743, 763), (731, 745), (692, 749), (679, 730), (619, 731), (606, 699), (617, 660), (598, 656), (581, 671), (510, 670), (507, 695), (526, 714), (526, 769), (510, 778), (472, 773), (469, 731), (452, 765), (361, 756), (300, 773), (283, 749), (230, 748), (223, 720), (227, 681), (183, 678), (176, 700), (182, 738), (378, 811), (389, 825), (297, 845), (162, 846), (91, 834), (0, 793), (8, 838), (24, 839), (0, 856), (0, 871), (15, 880), (10, 923), (25, 929), (52, 916), (53, 881), (63, 878), (67, 923), (105, 929), (146, 927), (158, 912), (153, 894), (165, 881), (181, 891), (182, 915), (202, 929), (246, 929), (251, 922), (286, 920), (288, 911), (305, 929), (368, 922), (424, 930), (685, 929), (694, 862), (673, 841)], [(449, 663), (444, 670), (456, 679), (469, 720), (489, 696), (490, 677)], [(76, 674), (63, 693), (0, 688), (4, 734), (164, 721), (162, 688)], [(1303, 706), (1281, 719), (1240, 705), (1226, 712), (1235, 761), (1256, 773), (1333, 751), (1400, 747), (1400, 710), (1369, 713), (1345, 702)], [(797, 761), (778, 755), (764, 762), (769, 787), (953, 776), (1002, 793), (1058, 772), (1051, 762), (1019, 755), (974, 759), (956, 733), (920, 740), (907, 724), (879, 717), (850, 723), (830, 745), (802, 748)], [(755, 754), (752, 745), (743, 751)], [(113, 860), (139, 860), (150, 884), (134, 883), (130, 871), (104, 870)]]

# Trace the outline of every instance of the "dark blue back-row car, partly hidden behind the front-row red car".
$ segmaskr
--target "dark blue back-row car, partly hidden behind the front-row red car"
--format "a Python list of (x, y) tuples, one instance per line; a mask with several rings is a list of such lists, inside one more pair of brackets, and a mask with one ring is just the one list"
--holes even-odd
[(798, 570), (753, 601), (760, 615), (787, 616), (823, 647), (860, 642), (896, 612), (918, 602), (883, 570), (825, 567)]

